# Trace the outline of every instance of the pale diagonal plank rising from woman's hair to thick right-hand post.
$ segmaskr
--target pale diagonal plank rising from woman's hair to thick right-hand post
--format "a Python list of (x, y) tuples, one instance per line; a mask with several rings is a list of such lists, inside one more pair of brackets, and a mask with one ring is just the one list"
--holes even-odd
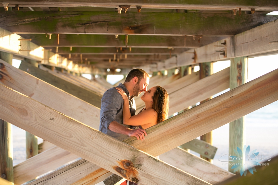
[[(230, 68), (226, 68), (169, 94), (169, 115), (229, 88), (229, 78)], [(183, 101), (180, 101), (181, 98)]]

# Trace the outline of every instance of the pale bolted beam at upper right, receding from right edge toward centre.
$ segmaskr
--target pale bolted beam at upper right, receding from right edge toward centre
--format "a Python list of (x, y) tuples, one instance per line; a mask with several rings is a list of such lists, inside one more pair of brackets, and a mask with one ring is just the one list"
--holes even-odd
[[(197, 49), (185, 51), (176, 57), (161, 62), (161, 64), (157, 63), (158, 67), (156, 68), (156, 66), (153, 66), (151, 70), (160, 71), (184, 65), (229, 60), (235, 57), (259, 55), (278, 51), (277, 43), (269, 43), (278, 40), (277, 30), (278, 22), (272, 21), (235, 35), (234, 37), (222, 39)], [(148, 66), (141, 66), (141, 68), (150, 69)]]

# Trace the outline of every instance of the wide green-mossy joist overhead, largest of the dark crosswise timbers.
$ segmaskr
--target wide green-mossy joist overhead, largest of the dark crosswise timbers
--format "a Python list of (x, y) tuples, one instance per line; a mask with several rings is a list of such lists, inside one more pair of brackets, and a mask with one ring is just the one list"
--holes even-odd
[(232, 36), (278, 16), (64, 11), (1, 11), (0, 27), (14, 33)]

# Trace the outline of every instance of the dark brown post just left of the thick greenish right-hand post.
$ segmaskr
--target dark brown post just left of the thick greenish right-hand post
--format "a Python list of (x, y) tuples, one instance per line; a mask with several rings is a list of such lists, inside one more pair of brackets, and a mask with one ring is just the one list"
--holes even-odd
[[(203, 79), (209, 75), (213, 74), (213, 62), (205, 62), (205, 63), (200, 63), (200, 79)], [(213, 97), (209, 97), (205, 99), (204, 101), (201, 101), (200, 104), (212, 99)], [(204, 134), (200, 137), (201, 140), (208, 142), (209, 144), (213, 144), (213, 131), (208, 132), (207, 134)], [(208, 162), (213, 162), (213, 159), (206, 158), (200, 154), (200, 158), (203, 158), (207, 160)]]

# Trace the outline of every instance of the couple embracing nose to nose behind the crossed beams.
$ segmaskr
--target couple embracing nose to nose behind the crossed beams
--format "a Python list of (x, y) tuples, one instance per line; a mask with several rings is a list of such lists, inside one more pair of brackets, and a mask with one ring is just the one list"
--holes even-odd
[[(147, 90), (150, 76), (143, 69), (131, 70), (124, 82), (107, 90), (101, 99), (99, 130), (118, 140), (128, 136), (145, 139), (145, 129), (167, 119), (169, 96), (160, 86)], [(141, 93), (145, 108), (137, 115), (133, 97)]]

